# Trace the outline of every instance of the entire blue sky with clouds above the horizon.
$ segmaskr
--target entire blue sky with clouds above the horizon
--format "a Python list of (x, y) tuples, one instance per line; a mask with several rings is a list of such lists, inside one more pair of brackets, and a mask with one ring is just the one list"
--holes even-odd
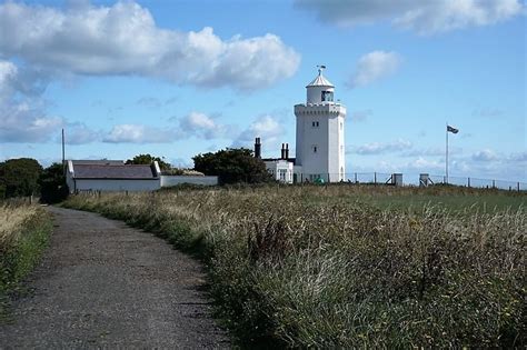
[[(387, 4), (388, 3), (388, 4)], [(326, 64), (347, 106), (348, 172), (527, 181), (520, 0), (0, 2), (0, 159), (180, 167), (295, 144)]]

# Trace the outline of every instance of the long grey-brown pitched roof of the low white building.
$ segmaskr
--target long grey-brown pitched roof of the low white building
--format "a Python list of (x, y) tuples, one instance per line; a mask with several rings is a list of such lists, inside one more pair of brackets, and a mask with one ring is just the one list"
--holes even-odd
[(77, 179), (156, 179), (156, 168), (150, 164), (74, 164)]

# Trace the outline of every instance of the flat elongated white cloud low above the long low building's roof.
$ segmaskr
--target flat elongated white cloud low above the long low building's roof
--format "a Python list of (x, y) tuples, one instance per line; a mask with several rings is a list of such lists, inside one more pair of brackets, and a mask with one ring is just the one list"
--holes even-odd
[(178, 132), (142, 124), (118, 124), (102, 139), (109, 143), (168, 143), (177, 141)]

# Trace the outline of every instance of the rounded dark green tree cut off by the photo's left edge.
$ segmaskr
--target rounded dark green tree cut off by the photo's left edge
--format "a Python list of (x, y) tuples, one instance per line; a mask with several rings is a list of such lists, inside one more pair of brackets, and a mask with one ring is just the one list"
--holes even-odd
[(0, 187), (3, 188), (4, 197), (26, 197), (37, 193), (41, 172), (42, 167), (31, 158), (9, 159), (0, 163)]

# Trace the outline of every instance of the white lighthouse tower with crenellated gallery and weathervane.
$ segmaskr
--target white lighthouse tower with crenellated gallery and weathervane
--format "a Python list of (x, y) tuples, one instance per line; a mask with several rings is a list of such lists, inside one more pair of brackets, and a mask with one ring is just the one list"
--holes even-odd
[(328, 182), (344, 180), (346, 173), (344, 122), (346, 107), (334, 101), (335, 86), (322, 74), (306, 87), (306, 103), (295, 106), (297, 140), (295, 172), (297, 179)]

